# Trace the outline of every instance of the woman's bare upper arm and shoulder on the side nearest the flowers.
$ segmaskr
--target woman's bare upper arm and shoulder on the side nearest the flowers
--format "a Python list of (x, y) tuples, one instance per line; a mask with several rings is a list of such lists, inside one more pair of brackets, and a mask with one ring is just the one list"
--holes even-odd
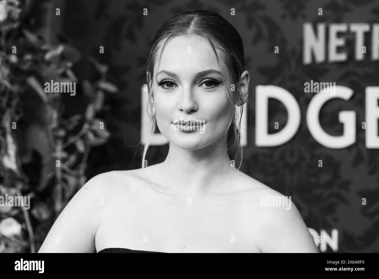
[(100, 173), (88, 180), (63, 208), (39, 252), (96, 251), (96, 231), (106, 218), (115, 181), (114, 172)]

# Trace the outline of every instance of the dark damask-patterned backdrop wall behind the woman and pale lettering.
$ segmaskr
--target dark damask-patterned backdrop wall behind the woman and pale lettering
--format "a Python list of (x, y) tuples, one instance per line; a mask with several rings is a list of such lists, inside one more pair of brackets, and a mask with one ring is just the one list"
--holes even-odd
[[(143, 16), (144, 8), (148, 9), (148, 16)], [(235, 16), (230, 15), (231, 8), (235, 8)], [(318, 15), (319, 8), (323, 9), (323, 16)], [(241, 170), (291, 196), (307, 226), (318, 235), (324, 230), (332, 237), (332, 230), (338, 230), (338, 236), (334, 236), (338, 248), (327, 245), (327, 252), (379, 252), (379, 151), (365, 147), (365, 130), (360, 124), (365, 121), (365, 87), (379, 85), (379, 63), (354, 60), (351, 33), (344, 35), (348, 46), (345, 51), (349, 53), (347, 62), (307, 66), (302, 63), (304, 22), (312, 22), (313, 26), (318, 22), (378, 22), (378, 1), (67, 1), (63, 33), (83, 55), (107, 63), (108, 79), (120, 88), (119, 93), (106, 96), (105, 105), (109, 109), (102, 117), (112, 136), (89, 155), (87, 176), (141, 166), (140, 88), (146, 83), (148, 41), (165, 20), (191, 9), (220, 13), (235, 26), (244, 42), (251, 85), (245, 110), (249, 120), (248, 140)], [(366, 37), (370, 45), (370, 36)], [(104, 54), (99, 54), (99, 46), (104, 46)], [(279, 46), (279, 54), (274, 54), (275, 46)], [(91, 73), (86, 65), (79, 62), (74, 67), (80, 69), (81, 79), (89, 78)], [(343, 132), (338, 112), (357, 113), (357, 141), (351, 147), (326, 148), (310, 135), (305, 113), (314, 94), (304, 93), (304, 82), (311, 79), (333, 81), (354, 90), (349, 101), (330, 101), (320, 113), (322, 127), (333, 136)], [(301, 108), (298, 132), (279, 147), (255, 146), (257, 85), (285, 88)], [(80, 104), (70, 102), (69, 106), (74, 109)], [(269, 133), (278, 131), (274, 130), (276, 121), (282, 128), (287, 122), (287, 111), (280, 102), (270, 100)], [(163, 161), (167, 152), (168, 146), (150, 147), (149, 165)], [(318, 167), (320, 159), (323, 167)], [(363, 197), (366, 205), (362, 205)]]

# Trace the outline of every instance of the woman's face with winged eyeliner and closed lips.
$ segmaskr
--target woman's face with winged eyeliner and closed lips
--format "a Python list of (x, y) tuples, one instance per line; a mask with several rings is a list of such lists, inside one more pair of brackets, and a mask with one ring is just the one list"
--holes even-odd
[[(230, 82), (221, 59), (220, 64)], [(208, 43), (199, 36), (171, 39), (163, 49), (159, 68), (154, 68), (153, 73), (157, 73), (152, 86), (157, 125), (171, 144), (196, 150), (226, 141), (225, 134), (234, 115), (226, 91), (230, 85), (224, 84)], [(194, 121), (192, 131), (186, 131), (189, 123), (185, 120)]]

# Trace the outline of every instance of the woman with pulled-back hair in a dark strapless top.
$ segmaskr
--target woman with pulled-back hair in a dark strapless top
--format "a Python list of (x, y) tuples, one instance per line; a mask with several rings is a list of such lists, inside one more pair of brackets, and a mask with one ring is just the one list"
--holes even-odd
[(248, 96), (243, 70), (241, 37), (219, 14), (168, 20), (147, 71), (151, 131), (169, 140), (167, 158), (93, 177), (39, 252), (318, 252), (291, 201), (263, 206), (283, 196), (231, 163)]

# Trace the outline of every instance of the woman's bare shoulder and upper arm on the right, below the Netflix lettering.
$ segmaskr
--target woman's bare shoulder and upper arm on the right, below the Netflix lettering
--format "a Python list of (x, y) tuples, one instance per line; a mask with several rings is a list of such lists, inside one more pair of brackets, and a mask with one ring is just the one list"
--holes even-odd
[(318, 252), (291, 196), (248, 175), (241, 178), (246, 189), (241, 193), (246, 222), (262, 252)]

